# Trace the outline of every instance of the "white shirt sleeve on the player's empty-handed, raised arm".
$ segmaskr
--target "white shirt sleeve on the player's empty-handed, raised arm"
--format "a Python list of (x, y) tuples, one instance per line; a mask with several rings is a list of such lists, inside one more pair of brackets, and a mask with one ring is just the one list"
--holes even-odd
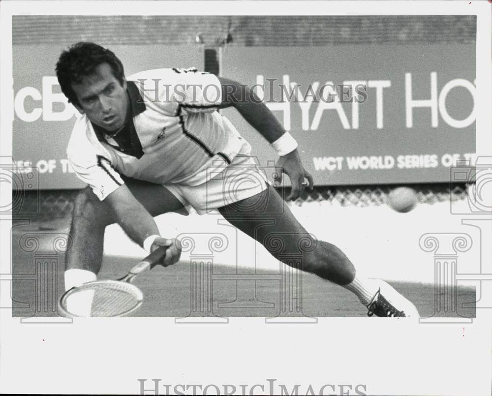
[(196, 68), (172, 69), (176, 73), (173, 100), (188, 113), (212, 113), (221, 104), (221, 84), (211, 73)]

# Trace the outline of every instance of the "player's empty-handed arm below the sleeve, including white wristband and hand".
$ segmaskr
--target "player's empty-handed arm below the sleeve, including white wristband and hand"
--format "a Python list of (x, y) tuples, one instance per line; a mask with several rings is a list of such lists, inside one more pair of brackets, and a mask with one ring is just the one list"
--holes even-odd
[(295, 201), (304, 190), (304, 180), (313, 188), (312, 176), (304, 169), (301, 157), (297, 151), (297, 144), (289, 133), (285, 131), (270, 109), (258, 96), (245, 85), (236, 81), (219, 77), (222, 85), (222, 104), (220, 108), (234, 107), (243, 118), (255, 128), (277, 150), (277, 177), (276, 185), (282, 180), (282, 172), (287, 174), (292, 183), (292, 190), (287, 200)]

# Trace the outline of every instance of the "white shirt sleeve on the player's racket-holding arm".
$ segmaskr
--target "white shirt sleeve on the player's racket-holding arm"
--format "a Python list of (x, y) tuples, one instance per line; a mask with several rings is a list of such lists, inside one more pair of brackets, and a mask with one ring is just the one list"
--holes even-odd
[(67, 159), (77, 177), (92, 187), (92, 191), (99, 200), (104, 200), (124, 184), (122, 177), (112, 166), (109, 152), (103, 150), (102, 147), (94, 147), (82, 136), (72, 134), (66, 152)]

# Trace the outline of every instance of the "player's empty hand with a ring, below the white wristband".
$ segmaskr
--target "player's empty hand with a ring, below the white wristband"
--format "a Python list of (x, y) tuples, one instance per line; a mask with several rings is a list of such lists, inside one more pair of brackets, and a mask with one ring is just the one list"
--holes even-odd
[(295, 201), (304, 191), (304, 179), (309, 182), (309, 189), (312, 190), (314, 182), (312, 176), (309, 172), (304, 169), (301, 157), (297, 150), (289, 152), (287, 155), (278, 158), (277, 164), (275, 165), (275, 171), (277, 173), (274, 178), (274, 186), (277, 187), (282, 182), (282, 173), (289, 176), (290, 182), (292, 184), (292, 189), (290, 194), (287, 196), (287, 201)]

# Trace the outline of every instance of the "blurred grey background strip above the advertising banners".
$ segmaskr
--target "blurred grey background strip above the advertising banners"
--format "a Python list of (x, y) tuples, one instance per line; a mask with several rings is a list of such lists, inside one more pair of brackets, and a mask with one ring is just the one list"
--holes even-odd
[(13, 44), (318, 46), (474, 43), (474, 16), (35, 16), (14, 17)]

